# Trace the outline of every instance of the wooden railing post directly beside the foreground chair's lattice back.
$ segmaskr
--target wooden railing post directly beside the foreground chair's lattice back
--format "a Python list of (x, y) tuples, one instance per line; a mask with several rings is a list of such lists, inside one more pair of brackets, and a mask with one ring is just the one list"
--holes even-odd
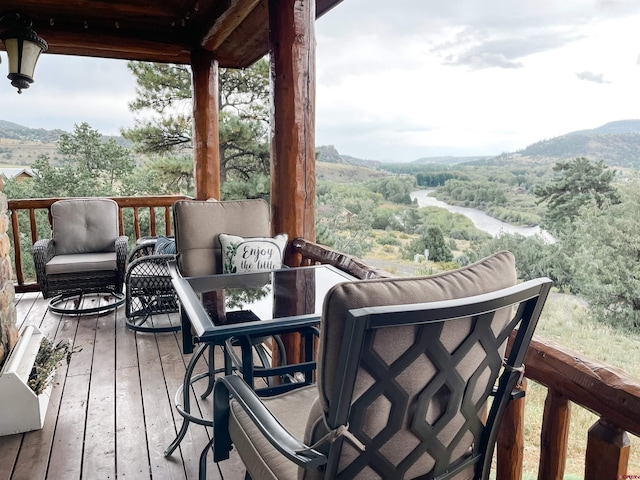
[[(518, 390), (527, 390), (527, 379), (522, 379)], [(522, 480), (524, 461), (524, 406), (525, 397), (513, 400), (504, 412), (496, 444), (496, 478)]]

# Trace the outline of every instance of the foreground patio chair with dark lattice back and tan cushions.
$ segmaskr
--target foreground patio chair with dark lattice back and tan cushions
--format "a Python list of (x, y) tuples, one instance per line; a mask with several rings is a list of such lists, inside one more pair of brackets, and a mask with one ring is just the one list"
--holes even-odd
[(502, 252), (432, 277), (334, 287), (317, 385), (260, 399), (237, 375), (217, 380), (214, 460), (234, 445), (255, 480), (488, 478), (551, 286), (515, 283)]

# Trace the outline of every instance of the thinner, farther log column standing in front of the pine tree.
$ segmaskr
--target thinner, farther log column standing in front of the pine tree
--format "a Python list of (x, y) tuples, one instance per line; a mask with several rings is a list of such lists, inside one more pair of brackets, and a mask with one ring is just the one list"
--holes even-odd
[(193, 157), (197, 200), (220, 199), (218, 61), (211, 52), (191, 52), (193, 75)]

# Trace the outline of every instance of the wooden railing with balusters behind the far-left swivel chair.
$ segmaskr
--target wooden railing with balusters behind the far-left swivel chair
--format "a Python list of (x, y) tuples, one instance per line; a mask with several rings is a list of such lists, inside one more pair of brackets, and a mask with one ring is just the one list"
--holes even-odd
[[(137, 240), (141, 236), (145, 235), (157, 235), (158, 232), (158, 218), (156, 209), (162, 211), (161, 216), (164, 223), (165, 235), (171, 235), (172, 219), (171, 219), (171, 206), (177, 201), (184, 198), (189, 198), (184, 195), (158, 195), (150, 197), (112, 197), (116, 201), (119, 207), (119, 227), (120, 234), (125, 232), (132, 232), (133, 237)], [(36, 198), (36, 199), (20, 199), (9, 200), (8, 210), (11, 219), (11, 232), (13, 234), (13, 259), (14, 259), (14, 272), (16, 276), (16, 292), (37, 291), (38, 284), (35, 282), (25, 283), (25, 275), (23, 272), (23, 252), (20, 246), (21, 234), (26, 232), (20, 231), (19, 215), (21, 211), (27, 212), (29, 218), (29, 233), (31, 236), (31, 245), (40, 238), (47, 238), (50, 234), (49, 231), (39, 232), (38, 224), (36, 221), (36, 212), (38, 210), (46, 210), (49, 216), (49, 223), (51, 223), (50, 208), (51, 205), (60, 198)], [(125, 225), (124, 211), (131, 209), (133, 211), (132, 225)], [(140, 213), (141, 211), (148, 211), (149, 213), (149, 228), (148, 231), (142, 232), (140, 227)], [(126, 228), (130, 227), (130, 228)]]

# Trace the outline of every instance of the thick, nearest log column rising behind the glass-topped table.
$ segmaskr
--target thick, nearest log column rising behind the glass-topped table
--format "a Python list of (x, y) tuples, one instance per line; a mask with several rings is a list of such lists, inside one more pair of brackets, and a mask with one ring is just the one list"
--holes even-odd
[[(269, 0), (271, 218), (274, 233), (315, 241), (315, 2)], [(288, 265), (299, 255), (289, 248)]]

